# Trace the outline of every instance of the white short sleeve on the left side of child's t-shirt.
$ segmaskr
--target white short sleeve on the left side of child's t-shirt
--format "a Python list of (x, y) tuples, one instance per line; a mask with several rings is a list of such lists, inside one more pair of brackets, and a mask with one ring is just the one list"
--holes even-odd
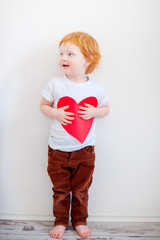
[(42, 90), (42, 96), (49, 102), (54, 102), (54, 89), (55, 82), (54, 79), (51, 79)]

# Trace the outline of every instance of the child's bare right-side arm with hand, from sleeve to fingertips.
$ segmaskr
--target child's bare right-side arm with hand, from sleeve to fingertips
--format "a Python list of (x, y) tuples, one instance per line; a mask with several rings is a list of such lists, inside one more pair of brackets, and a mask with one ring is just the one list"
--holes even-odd
[(109, 111), (109, 104), (107, 103), (103, 107), (95, 108), (90, 104), (84, 103), (85, 107), (79, 107), (81, 109), (78, 111), (80, 114), (79, 117), (83, 118), (84, 120), (88, 120), (90, 118), (102, 118), (105, 117)]

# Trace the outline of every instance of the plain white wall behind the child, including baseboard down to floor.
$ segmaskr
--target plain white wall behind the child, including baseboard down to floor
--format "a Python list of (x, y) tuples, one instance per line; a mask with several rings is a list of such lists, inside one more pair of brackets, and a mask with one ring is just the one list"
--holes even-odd
[(61, 74), (60, 39), (86, 31), (99, 42), (94, 77), (111, 106), (98, 120), (90, 219), (160, 220), (160, 1), (2, 0), (0, 9), (0, 217), (52, 215), (41, 90)]

